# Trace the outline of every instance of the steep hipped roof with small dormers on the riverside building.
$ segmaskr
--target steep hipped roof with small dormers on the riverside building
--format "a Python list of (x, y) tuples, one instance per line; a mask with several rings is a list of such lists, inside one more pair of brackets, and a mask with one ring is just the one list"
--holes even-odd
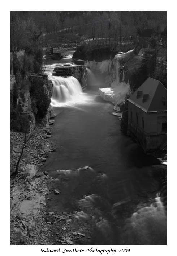
[(167, 111), (167, 89), (161, 82), (149, 77), (128, 101), (145, 112)]

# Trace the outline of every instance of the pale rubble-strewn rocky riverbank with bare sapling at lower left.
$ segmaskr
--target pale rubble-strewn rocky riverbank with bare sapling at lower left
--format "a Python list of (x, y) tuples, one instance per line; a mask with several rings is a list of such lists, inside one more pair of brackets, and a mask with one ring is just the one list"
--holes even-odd
[[(91, 245), (91, 225), (80, 222), (77, 210), (52, 212), (48, 194), (55, 193), (55, 178), (44, 172), (46, 158), (55, 151), (46, 134), (36, 134), (40, 151), (28, 148), (19, 173), (10, 180), (10, 245)], [(24, 135), (10, 132), (10, 171), (21, 152)]]

